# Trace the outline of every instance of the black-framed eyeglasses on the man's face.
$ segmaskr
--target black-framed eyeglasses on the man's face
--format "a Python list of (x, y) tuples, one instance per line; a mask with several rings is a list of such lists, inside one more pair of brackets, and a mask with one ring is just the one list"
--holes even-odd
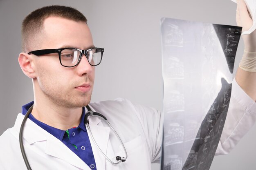
[(31, 51), (28, 54), (34, 54), (37, 56), (58, 53), (60, 63), (64, 67), (74, 67), (81, 61), (83, 54), (87, 58), (91, 66), (97, 66), (101, 63), (103, 48), (92, 48), (88, 50), (80, 50), (75, 48), (63, 48), (63, 49), (45, 49)]

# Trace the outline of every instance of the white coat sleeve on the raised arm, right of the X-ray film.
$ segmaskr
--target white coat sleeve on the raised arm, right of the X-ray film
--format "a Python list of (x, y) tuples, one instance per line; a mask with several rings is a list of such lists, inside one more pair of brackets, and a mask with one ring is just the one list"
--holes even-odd
[(215, 155), (228, 154), (256, 121), (256, 103), (237, 84), (232, 83), (225, 125)]

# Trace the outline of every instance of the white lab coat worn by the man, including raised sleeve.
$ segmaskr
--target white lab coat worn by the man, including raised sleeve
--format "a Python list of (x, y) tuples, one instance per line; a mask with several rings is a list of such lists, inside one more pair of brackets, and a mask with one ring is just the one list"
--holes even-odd
[[(231, 96), (227, 122), (217, 154), (226, 154), (234, 148), (256, 120), (255, 102), (235, 81)], [(159, 160), (161, 156), (161, 114), (153, 108), (132, 104), (126, 99), (96, 102), (90, 106), (92, 110), (108, 118), (128, 152), (126, 162), (112, 165), (101, 155), (89, 134), (97, 170), (150, 170), (150, 163)], [(0, 170), (26, 170), (18, 140), (23, 117), (18, 114), (14, 127), (0, 136)], [(118, 139), (112, 135), (110, 128), (102, 125), (101, 119), (90, 119), (92, 134), (101, 150), (113, 160), (117, 155), (124, 157)], [(30, 119), (27, 119), (25, 124), (23, 138), (25, 152), (34, 170), (90, 170), (89, 166), (59, 139)]]

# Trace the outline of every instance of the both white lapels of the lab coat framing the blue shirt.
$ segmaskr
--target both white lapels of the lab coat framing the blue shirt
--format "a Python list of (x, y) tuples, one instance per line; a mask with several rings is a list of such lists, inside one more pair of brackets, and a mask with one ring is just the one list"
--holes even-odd
[[(92, 111), (95, 111), (92, 107), (91, 109)], [(18, 117), (14, 125), (14, 130), (16, 131), (17, 138), (20, 132), (20, 126), (23, 119), (24, 119), (24, 115), (22, 115), (21, 113), (18, 114)], [(95, 116), (91, 117), (90, 128), (94, 136), (94, 139), (97, 141), (97, 144), (99, 145), (101, 150), (106, 154), (110, 128), (100, 126), (101, 125), (100, 122), (101, 122), (101, 119), (99, 119), (98, 117), (95, 117)], [(94, 152), (94, 159), (96, 162), (97, 170), (104, 170), (106, 159), (100, 153), (97, 146), (92, 141), (92, 137), (90, 133), (89, 133), (89, 138), (92, 145), (92, 150)], [(23, 139), (25, 139), (25, 141), (27, 141), (29, 145), (39, 141), (46, 142), (46, 147), (45, 147), (46, 154), (62, 159), (67, 163), (70, 163), (73, 166), (76, 166), (83, 170), (90, 170), (90, 168), (86, 165), (86, 163), (83, 162), (83, 160), (81, 160), (74, 152), (72, 152), (72, 150), (67, 148), (65, 144), (63, 144), (59, 139), (57, 139), (56, 137), (54, 137), (53, 135), (45, 131), (43, 128), (40, 128), (40, 126), (36, 125), (30, 119), (27, 119), (25, 123), (24, 130), (23, 130)]]

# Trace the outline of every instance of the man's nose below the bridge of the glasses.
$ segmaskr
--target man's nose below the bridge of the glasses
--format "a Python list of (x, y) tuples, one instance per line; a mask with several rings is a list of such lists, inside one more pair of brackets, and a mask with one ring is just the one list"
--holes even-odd
[(76, 70), (79, 73), (80, 76), (84, 74), (90, 74), (92, 71), (94, 71), (94, 66), (91, 66), (90, 63), (88, 62), (88, 59), (86, 56), (83, 54), (81, 61), (79, 64), (76, 66)]

